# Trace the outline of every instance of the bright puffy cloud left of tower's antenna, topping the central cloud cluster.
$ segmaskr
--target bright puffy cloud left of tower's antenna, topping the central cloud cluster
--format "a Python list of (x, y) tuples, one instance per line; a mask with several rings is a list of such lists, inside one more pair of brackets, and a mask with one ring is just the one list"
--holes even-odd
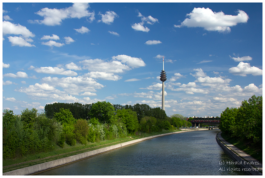
[(112, 59), (120, 60), (122, 63), (126, 63), (128, 66), (133, 68), (145, 66), (145, 62), (141, 58), (135, 58), (127, 55), (112, 56)]

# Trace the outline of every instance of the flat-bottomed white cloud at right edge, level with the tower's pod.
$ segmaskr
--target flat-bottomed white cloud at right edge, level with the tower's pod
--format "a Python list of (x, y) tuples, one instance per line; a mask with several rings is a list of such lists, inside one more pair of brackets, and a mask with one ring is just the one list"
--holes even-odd
[(262, 75), (262, 69), (255, 66), (251, 67), (249, 63), (240, 62), (236, 67), (228, 69), (233, 75), (246, 76), (247, 74), (251, 75)]

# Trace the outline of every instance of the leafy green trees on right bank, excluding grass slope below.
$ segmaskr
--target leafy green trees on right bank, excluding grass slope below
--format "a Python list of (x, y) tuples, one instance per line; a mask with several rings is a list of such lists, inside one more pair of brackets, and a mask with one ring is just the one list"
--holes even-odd
[(240, 108), (226, 108), (221, 114), (219, 128), (257, 147), (262, 147), (262, 96), (253, 95)]

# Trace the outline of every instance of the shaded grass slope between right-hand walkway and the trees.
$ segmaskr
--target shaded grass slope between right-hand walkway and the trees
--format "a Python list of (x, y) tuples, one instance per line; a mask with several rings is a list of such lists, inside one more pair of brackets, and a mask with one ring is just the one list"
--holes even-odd
[(262, 162), (262, 148), (253, 147), (253, 146), (249, 145), (248, 142), (242, 141), (241, 139), (236, 138), (236, 137), (231, 137), (230, 135), (225, 134), (223, 132), (221, 133), (221, 136), (227, 142), (231, 143), (232, 145), (235, 145), (240, 150), (243, 150), (244, 152), (246, 152), (250, 156), (252, 156), (255, 159)]

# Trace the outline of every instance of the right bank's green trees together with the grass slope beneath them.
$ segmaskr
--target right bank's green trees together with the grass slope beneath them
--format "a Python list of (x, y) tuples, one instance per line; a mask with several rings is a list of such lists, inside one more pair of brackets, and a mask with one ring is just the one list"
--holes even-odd
[(253, 95), (239, 108), (226, 108), (219, 128), (224, 139), (262, 161), (262, 96)]

